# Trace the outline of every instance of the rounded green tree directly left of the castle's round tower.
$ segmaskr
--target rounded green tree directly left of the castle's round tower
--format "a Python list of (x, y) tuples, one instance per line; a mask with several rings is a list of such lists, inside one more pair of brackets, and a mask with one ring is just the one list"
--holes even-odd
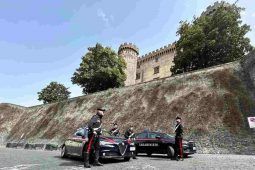
[(71, 80), (83, 87), (84, 94), (121, 87), (126, 80), (125, 68), (126, 62), (121, 56), (97, 43), (88, 48)]

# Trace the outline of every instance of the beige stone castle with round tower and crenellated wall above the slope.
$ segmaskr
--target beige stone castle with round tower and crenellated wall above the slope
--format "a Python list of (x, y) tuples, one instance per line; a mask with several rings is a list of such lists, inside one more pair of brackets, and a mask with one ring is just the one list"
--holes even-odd
[(155, 51), (139, 56), (139, 49), (132, 43), (121, 44), (118, 54), (122, 56), (127, 68), (126, 86), (171, 76), (170, 68), (176, 54), (175, 45), (169, 44)]

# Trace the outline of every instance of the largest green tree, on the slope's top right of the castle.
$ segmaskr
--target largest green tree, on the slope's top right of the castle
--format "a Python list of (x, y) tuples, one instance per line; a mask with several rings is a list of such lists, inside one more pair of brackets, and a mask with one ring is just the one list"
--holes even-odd
[(236, 61), (252, 50), (245, 37), (250, 26), (242, 25), (240, 15), (244, 9), (235, 4), (220, 4), (207, 8), (192, 23), (180, 22), (173, 74)]

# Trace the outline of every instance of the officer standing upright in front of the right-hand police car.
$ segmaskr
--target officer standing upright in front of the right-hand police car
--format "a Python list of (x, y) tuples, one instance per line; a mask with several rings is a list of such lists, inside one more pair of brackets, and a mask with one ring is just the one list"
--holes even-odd
[(175, 125), (175, 159), (179, 161), (178, 155), (180, 155), (181, 160), (183, 160), (183, 148), (182, 148), (182, 137), (183, 137), (183, 126), (181, 124), (181, 118), (176, 117)]

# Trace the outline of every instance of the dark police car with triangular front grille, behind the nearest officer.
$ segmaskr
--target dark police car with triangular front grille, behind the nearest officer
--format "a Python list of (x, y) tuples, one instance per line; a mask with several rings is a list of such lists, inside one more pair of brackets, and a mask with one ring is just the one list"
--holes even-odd
[[(61, 145), (61, 157), (76, 156), (83, 158), (85, 146), (88, 142), (88, 129), (80, 128), (74, 135)], [(123, 158), (129, 161), (135, 154), (134, 143), (121, 137), (113, 137), (104, 132), (100, 136), (100, 158)]]

